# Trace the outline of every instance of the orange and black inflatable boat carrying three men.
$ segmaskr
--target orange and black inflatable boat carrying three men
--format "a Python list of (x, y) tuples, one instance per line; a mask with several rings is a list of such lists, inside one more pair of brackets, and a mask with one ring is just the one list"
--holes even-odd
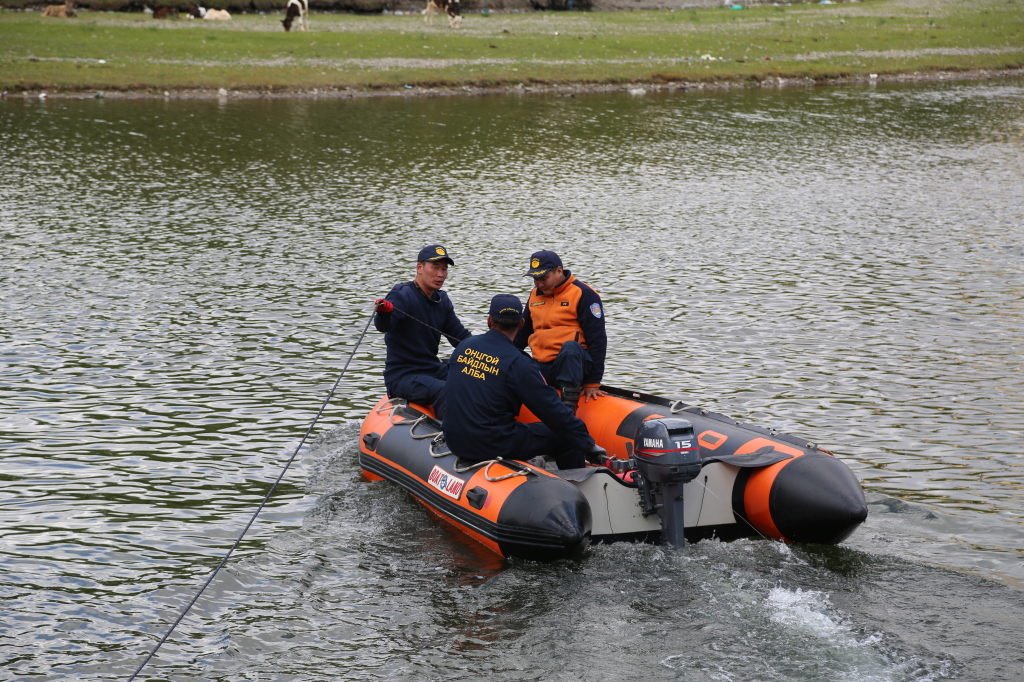
[[(429, 408), (386, 396), (362, 422), (359, 465), (503, 557), (559, 559), (616, 541), (835, 545), (867, 517), (856, 476), (814, 442), (682, 400), (602, 388), (607, 396), (577, 413), (607, 452), (600, 465), (463, 461)], [(537, 421), (525, 408), (518, 419)], [(481, 442), (481, 457), (486, 449)]]

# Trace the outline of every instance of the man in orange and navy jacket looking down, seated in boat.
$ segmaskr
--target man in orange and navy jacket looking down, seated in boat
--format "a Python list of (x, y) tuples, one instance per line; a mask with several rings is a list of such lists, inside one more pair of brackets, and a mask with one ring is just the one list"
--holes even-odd
[(597, 292), (562, 267), (554, 251), (538, 251), (529, 258), (535, 289), (526, 305), (525, 325), (515, 337), (516, 348), (529, 349), (541, 374), (562, 390), (562, 401), (577, 409), (580, 396), (599, 395), (604, 376), (608, 337), (604, 306)]

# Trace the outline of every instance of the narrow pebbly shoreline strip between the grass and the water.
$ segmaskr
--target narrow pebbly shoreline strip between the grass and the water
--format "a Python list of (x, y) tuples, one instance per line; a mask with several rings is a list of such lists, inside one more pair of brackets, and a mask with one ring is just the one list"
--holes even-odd
[(637, 80), (630, 83), (515, 83), (509, 85), (459, 85), (430, 86), (404, 85), (378, 88), (66, 88), (60, 90), (28, 89), (4, 92), (2, 99), (357, 99), (372, 97), (454, 97), (494, 95), (561, 95), (628, 92), (634, 95), (647, 93), (711, 92), (742, 89), (836, 87), (846, 85), (876, 85), (880, 83), (927, 83), (983, 81), (1004, 78), (1024, 78), (1024, 68), (944, 70), (930, 72), (885, 73), (835, 78), (808, 78), (806, 76), (779, 75), (761, 80), (717, 79), (710, 81), (659, 82)]

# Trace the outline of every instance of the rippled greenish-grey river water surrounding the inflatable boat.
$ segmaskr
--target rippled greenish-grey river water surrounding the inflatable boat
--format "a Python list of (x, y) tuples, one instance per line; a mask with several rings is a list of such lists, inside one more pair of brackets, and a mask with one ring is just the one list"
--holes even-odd
[(127, 679), (230, 547), (370, 313), (550, 248), (606, 381), (806, 436), (840, 547), (501, 562), (358, 423), (368, 337), (139, 679), (1024, 676), (1024, 84), (630, 97), (0, 101), (0, 679)]

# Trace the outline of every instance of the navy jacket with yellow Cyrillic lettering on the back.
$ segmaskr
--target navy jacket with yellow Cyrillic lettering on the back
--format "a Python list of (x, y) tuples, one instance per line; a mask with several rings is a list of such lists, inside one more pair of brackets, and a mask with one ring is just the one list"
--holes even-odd
[(558, 392), (544, 383), (537, 361), (490, 330), (463, 341), (449, 358), (447, 410), (441, 429), (453, 453), (471, 460), (513, 458), (515, 421), (525, 404), (548, 428), (579, 450), (594, 442)]

